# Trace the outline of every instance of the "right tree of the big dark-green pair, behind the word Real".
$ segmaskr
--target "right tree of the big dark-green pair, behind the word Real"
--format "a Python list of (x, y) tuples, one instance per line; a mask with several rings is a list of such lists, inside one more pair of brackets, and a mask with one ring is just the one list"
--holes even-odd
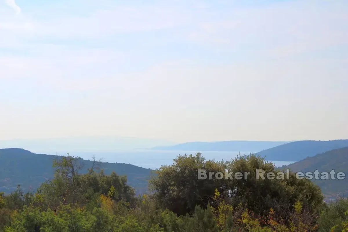
[(304, 210), (308, 210), (309, 214), (319, 213), (323, 206), (323, 195), (319, 187), (307, 179), (295, 178), (292, 172), (289, 173), (289, 179), (257, 179), (258, 169), (264, 170), (265, 175), (280, 171), (260, 156), (238, 156), (226, 163), (226, 169), (232, 173), (250, 173), (246, 179), (234, 178), (227, 182), (224, 194), (228, 195), (234, 207), (242, 204), (260, 216), (267, 216), (269, 210), (274, 209), (279, 218), (288, 220), (297, 201), (303, 203)]

